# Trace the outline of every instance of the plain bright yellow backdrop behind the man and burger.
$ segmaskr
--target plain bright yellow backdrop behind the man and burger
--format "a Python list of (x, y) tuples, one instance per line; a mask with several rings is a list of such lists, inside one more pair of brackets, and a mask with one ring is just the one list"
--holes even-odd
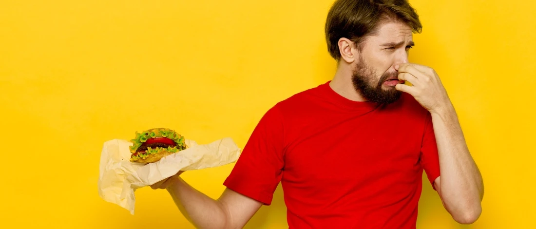
[[(331, 79), (331, 3), (3, 0), (2, 227), (192, 228), (164, 190), (138, 190), (134, 216), (101, 200), (102, 143), (168, 127), (243, 147), (274, 103)], [(425, 180), (418, 228), (533, 226), (536, 4), (411, 3), (424, 29), (410, 59), (442, 77), (486, 186), (481, 218), (460, 226)], [(231, 169), (184, 178), (216, 198)], [(247, 228), (286, 226), (274, 195)]]

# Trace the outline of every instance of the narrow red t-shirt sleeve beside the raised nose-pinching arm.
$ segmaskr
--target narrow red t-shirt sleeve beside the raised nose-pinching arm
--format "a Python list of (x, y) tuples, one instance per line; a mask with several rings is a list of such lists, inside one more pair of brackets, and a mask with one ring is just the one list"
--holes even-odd
[(430, 113), (427, 113), (425, 131), (422, 137), (421, 165), (425, 169), (428, 180), (434, 188), (434, 181), (440, 176), (440, 166), (434, 127)]

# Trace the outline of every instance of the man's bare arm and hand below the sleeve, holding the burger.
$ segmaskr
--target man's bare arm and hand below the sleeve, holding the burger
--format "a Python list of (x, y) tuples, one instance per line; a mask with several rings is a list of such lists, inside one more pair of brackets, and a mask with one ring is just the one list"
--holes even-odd
[(262, 206), (262, 203), (230, 189), (225, 189), (220, 198), (214, 200), (178, 176), (151, 187), (167, 189), (178, 209), (196, 228), (242, 228)]

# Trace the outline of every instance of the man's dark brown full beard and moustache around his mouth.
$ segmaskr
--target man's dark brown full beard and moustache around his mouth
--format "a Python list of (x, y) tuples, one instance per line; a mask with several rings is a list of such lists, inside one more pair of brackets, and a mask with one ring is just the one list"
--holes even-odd
[(402, 92), (393, 86), (386, 90), (382, 88), (386, 79), (397, 75), (397, 72), (385, 72), (376, 83), (374, 71), (360, 58), (352, 75), (352, 83), (365, 100), (386, 105), (397, 101), (402, 95)]

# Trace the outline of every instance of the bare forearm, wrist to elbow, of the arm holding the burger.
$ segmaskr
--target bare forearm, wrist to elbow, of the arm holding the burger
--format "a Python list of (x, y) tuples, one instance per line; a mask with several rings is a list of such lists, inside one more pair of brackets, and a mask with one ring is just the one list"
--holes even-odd
[(188, 221), (197, 228), (226, 228), (227, 214), (222, 203), (178, 179), (167, 190)]

